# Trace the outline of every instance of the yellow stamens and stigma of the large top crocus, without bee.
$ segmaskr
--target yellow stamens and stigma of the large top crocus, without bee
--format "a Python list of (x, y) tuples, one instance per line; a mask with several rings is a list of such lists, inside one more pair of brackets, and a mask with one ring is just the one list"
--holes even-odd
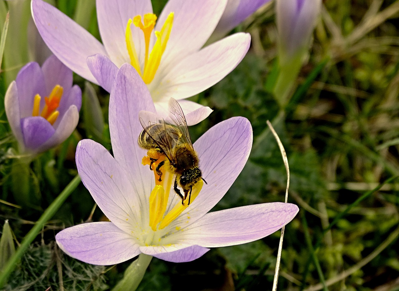
[[(154, 47), (150, 50), (150, 38), (152, 30), (154, 30), (156, 23), (156, 16), (152, 13), (144, 14), (144, 24), (141, 21), (141, 16), (134, 16), (133, 20), (129, 19), (126, 26), (126, 48), (130, 57), (130, 64), (136, 69), (136, 71), (142, 77), (144, 83), (149, 84), (154, 79), (155, 73), (159, 67), (162, 54), (165, 51), (166, 44), (168, 43), (170, 31), (172, 30), (174, 13), (171, 12), (161, 31), (156, 31), (156, 42)], [(130, 25), (132, 24), (140, 28), (144, 34), (144, 42), (146, 45), (146, 51), (144, 56), (144, 68), (141, 70), (140, 62), (138, 61), (138, 56), (136, 48), (134, 47), (134, 42), (132, 38), (132, 31), (130, 30)]]

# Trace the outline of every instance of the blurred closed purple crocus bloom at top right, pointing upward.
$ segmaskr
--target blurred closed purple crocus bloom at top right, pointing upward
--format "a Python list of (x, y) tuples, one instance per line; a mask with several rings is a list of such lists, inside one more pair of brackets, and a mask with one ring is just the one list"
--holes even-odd
[(320, 14), (321, 0), (276, 0), (281, 61), (303, 54)]

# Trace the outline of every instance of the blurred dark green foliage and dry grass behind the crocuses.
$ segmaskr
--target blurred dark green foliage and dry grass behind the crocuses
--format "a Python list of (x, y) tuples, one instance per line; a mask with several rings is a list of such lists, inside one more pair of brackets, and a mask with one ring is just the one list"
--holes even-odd
[[(159, 14), (166, 1), (152, 2)], [(93, 3), (55, 2), (99, 38)], [(79, 16), (79, 5), (87, 5), (84, 15), (89, 18)], [(399, 290), (398, 12), (399, 1), (393, 0), (324, 1), (308, 63), (290, 102), (280, 109), (270, 88), (277, 30), (273, 3), (267, 4), (235, 29), (252, 36), (243, 61), (221, 82), (191, 98), (214, 110), (190, 127), (194, 141), (229, 117), (247, 117), (253, 126), (249, 161), (214, 210), (284, 201), (286, 172), (267, 120), (285, 146), (291, 174), (288, 201), (300, 212), (285, 230), (279, 290)], [(2, 68), (14, 69), (5, 63)], [(13, 139), (0, 102), (0, 218), (1, 224), (9, 220), (17, 244), (77, 174), (78, 141), (91, 138), (111, 149), (109, 95), (76, 75), (75, 82), (84, 91), (76, 131), (30, 168), (16, 170), (34, 185), (29, 197), (14, 197), (10, 189)], [(0, 83), (3, 100), (8, 83), (4, 78)], [(85, 102), (92, 104), (97, 97), (103, 120), (91, 121), (95, 109)], [(79, 185), (31, 245), (5, 290), (108, 290), (115, 285), (131, 261), (88, 265), (65, 255), (54, 240), (65, 227), (103, 219)], [(190, 263), (154, 258), (139, 290), (271, 289), (279, 236), (277, 232), (256, 242), (211, 249)]]

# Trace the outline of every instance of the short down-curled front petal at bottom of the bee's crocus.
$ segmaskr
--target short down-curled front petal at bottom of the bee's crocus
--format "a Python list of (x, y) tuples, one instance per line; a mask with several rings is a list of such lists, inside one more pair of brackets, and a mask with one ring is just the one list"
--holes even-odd
[(165, 252), (166, 250), (169, 249), (163, 245), (140, 247), (140, 251), (142, 253), (173, 263), (194, 261), (209, 251), (209, 249), (200, 247), (199, 245), (191, 245), (189, 247), (185, 247), (184, 249), (178, 249), (177, 251)]

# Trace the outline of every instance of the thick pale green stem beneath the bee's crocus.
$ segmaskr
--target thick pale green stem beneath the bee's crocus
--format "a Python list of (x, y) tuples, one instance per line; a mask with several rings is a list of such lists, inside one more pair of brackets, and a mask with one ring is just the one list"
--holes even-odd
[(138, 255), (138, 259), (130, 264), (130, 266), (124, 272), (123, 279), (114, 287), (114, 289), (112, 289), (112, 291), (136, 290), (143, 279), (144, 273), (146, 272), (151, 259), (151, 255), (140, 253), (140, 255)]

